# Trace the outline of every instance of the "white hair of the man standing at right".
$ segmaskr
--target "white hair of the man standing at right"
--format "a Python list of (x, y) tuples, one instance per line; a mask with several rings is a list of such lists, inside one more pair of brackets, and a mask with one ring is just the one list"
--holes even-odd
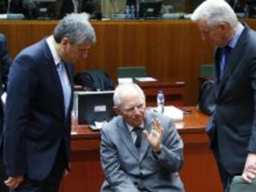
[(234, 28), (239, 23), (234, 10), (224, 0), (207, 0), (202, 2), (193, 12), (191, 20), (206, 20), (209, 27), (215, 27), (215, 25), (221, 22), (226, 22)]

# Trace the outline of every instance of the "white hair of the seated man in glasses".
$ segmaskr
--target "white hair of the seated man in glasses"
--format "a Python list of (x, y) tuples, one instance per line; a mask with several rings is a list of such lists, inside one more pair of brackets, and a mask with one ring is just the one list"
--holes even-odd
[(121, 106), (122, 98), (124, 96), (132, 96), (134, 94), (139, 94), (143, 101), (146, 101), (145, 94), (143, 93), (142, 89), (139, 85), (135, 83), (121, 83), (119, 84), (116, 89), (114, 90), (114, 105)]

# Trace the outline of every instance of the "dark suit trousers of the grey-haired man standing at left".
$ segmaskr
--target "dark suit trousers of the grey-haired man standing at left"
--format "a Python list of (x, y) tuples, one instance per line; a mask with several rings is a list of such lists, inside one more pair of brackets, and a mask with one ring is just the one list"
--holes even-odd
[(10, 192), (58, 192), (61, 178), (67, 167), (67, 158), (64, 149), (64, 144), (61, 144), (48, 177), (40, 181), (25, 177), (22, 185), (15, 190), (10, 190)]

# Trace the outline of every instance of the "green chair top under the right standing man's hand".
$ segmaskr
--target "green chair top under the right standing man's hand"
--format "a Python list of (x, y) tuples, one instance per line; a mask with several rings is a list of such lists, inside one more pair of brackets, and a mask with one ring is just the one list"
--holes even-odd
[(245, 183), (241, 176), (235, 176), (232, 180), (229, 192), (255, 192), (256, 179), (251, 184)]

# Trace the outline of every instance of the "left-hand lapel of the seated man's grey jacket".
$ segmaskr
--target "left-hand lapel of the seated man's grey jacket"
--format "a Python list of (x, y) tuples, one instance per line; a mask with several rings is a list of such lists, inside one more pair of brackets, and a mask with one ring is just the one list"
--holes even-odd
[(129, 128), (126, 126), (126, 123), (124, 123), (124, 120), (120, 120), (117, 126), (119, 131), (118, 134), (121, 136), (124, 144), (126, 144), (127, 149), (135, 157), (135, 159), (139, 161), (139, 152), (135, 147), (134, 142), (132, 141), (132, 136), (130, 135)]

